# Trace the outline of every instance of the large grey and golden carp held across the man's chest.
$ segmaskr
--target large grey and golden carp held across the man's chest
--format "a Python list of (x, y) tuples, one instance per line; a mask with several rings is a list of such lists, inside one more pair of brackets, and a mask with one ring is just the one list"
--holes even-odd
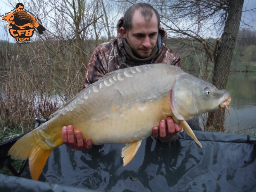
[[(124, 166), (141, 141), (152, 135), (161, 119), (172, 116), (202, 147), (187, 120), (219, 107), (230, 95), (210, 83), (168, 64), (149, 64), (106, 74), (58, 109), (54, 118), (31, 131), (9, 150), (12, 159), (29, 158), (37, 180), (48, 156), (62, 145), (61, 131), (73, 125), (93, 144), (128, 144), (122, 149)], [(227, 108), (228, 109), (228, 108)]]

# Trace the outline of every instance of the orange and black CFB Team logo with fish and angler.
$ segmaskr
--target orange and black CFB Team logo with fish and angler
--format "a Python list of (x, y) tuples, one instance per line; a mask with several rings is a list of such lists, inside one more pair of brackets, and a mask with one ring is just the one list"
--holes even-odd
[[(14, 9), (13, 9), (14, 10)], [(35, 28), (40, 35), (43, 34), (45, 28), (36, 20), (31, 12), (26, 12), (22, 3), (17, 3), (14, 12), (8, 12), (5, 16), (1, 16), (4, 21), (9, 22), (9, 33), (16, 39), (16, 42), (29, 42), (33, 36)], [(39, 20), (39, 19), (38, 19)], [(39, 20), (40, 21), (40, 20)], [(42, 23), (42, 22), (41, 22)]]

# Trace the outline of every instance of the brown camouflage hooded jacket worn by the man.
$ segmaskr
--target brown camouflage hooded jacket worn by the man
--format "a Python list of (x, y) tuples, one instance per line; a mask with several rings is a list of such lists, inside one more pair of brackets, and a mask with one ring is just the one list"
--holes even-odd
[(152, 61), (147, 63), (137, 63), (126, 53), (123, 45), (123, 37), (120, 34), (120, 28), (123, 26), (123, 17), (119, 19), (117, 24), (117, 38), (109, 42), (102, 43), (95, 48), (83, 81), (83, 88), (98, 81), (106, 73), (115, 71), (120, 68), (127, 68), (131, 66), (138, 66), (150, 63), (166, 63), (181, 67), (180, 56), (167, 47), (167, 31), (159, 27), (159, 34), (157, 37), (158, 51), (153, 57)]

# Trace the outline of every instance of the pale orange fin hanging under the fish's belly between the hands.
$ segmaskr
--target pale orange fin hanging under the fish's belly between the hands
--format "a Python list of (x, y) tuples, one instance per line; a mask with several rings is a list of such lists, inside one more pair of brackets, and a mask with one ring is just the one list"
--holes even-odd
[(126, 166), (131, 159), (135, 156), (135, 154), (138, 151), (138, 148), (140, 147), (142, 140), (134, 141), (122, 149), (122, 157), (123, 157), (123, 162), (124, 166)]

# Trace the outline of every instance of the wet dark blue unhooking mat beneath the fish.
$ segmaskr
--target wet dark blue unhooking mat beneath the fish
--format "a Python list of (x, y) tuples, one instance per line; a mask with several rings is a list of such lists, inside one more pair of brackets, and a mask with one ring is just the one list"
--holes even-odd
[(249, 143), (246, 135), (194, 133), (203, 148), (185, 132), (172, 143), (157, 142), (149, 137), (142, 141), (137, 154), (125, 167), (121, 158), (124, 145), (93, 145), (86, 151), (74, 151), (62, 145), (50, 154), (39, 178), (41, 182), (21, 178), (30, 178), (26, 166), (19, 178), (0, 175), (0, 189), (19, 192), (256, 191), (256, 145)]

